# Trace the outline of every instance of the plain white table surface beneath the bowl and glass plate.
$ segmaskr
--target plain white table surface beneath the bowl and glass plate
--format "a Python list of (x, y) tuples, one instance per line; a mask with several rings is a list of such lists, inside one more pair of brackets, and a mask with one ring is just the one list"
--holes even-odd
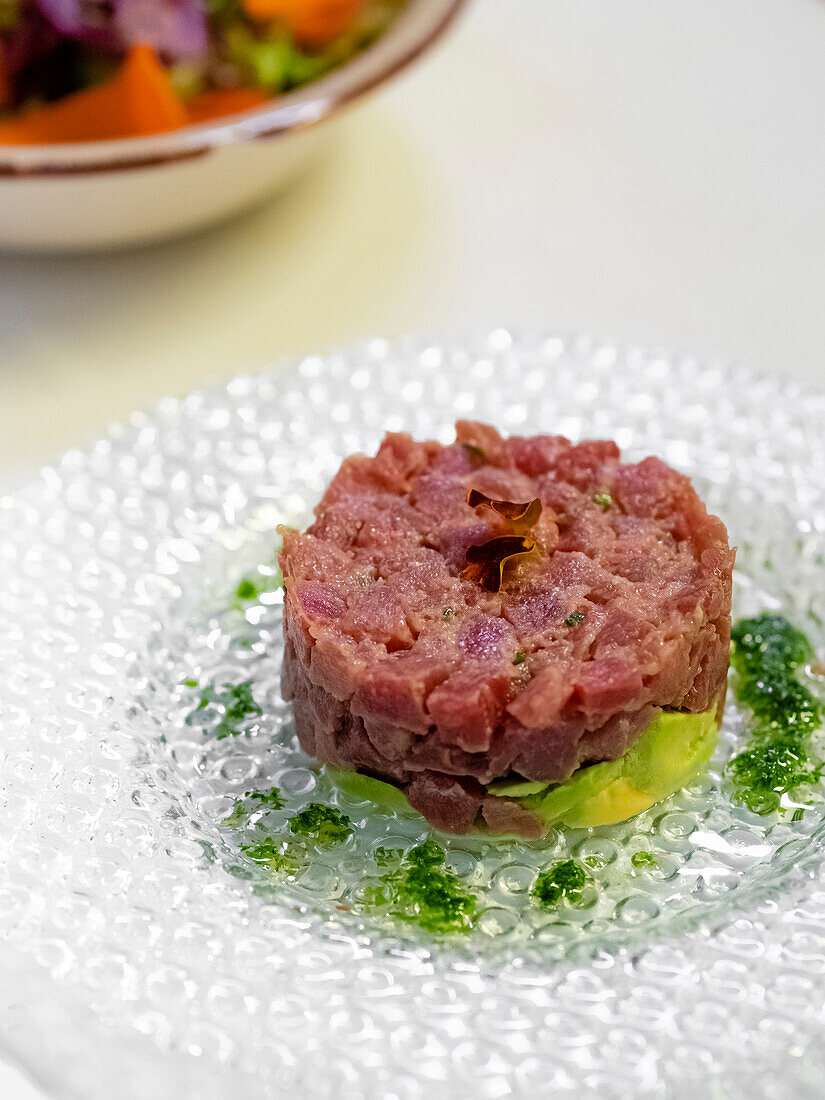
[(265, 208), (0, 257), (0, 486), (165, 394), (374, 334), (583, 329), (821, 380), (824, 135), (825, 0), (476, 0)]

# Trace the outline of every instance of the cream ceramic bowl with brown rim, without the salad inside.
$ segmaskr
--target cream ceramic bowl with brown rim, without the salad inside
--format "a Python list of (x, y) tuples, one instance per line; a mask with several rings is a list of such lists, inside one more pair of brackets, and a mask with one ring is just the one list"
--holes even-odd
[(367, 50), (264, 107), (172, 133), (0, 145), (0, 248), (146, 244), (252, 206), (286, 184), (344, 108), (441, 36), (464, 0), (413, 0)]

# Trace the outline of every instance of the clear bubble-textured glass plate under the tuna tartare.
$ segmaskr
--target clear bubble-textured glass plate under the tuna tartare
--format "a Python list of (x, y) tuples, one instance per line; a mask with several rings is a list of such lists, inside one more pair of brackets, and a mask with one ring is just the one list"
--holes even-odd
[[(457, 417), (660, 454), (739, 547), (736, 614), (784, 609), (822, 646), (825, 397), (741, 370), (501, 330), (376, 341), (66, 455), (0, 498), (0, 1034), (55, 1096), (825, 1092), (825, 805), (732, 805), (733, 705), (707, 777), (626, 825), (438, 837), (479, 913), (446, 939), (394, 915), (372, 855), (431, 831), (297, 748), (279, 592), (238, 583), (345, 454), (386, 429), (449, 441)], [(246, 682), (262, 713), (219, 737)], [(273, 784), (283, 806), (235, 809)], [(292, 873), (244, 853), (293, 843), (309, 802), (353, 835)], [(581, 904), (541, 910), (537, 872), (571, 856)]]

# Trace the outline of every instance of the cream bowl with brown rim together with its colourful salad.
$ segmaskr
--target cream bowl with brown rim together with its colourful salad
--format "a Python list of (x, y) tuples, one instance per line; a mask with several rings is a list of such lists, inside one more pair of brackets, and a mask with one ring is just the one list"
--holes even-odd
[(463, 0), (0, 0), (0, 248), (190, 232), (293, 178)]

